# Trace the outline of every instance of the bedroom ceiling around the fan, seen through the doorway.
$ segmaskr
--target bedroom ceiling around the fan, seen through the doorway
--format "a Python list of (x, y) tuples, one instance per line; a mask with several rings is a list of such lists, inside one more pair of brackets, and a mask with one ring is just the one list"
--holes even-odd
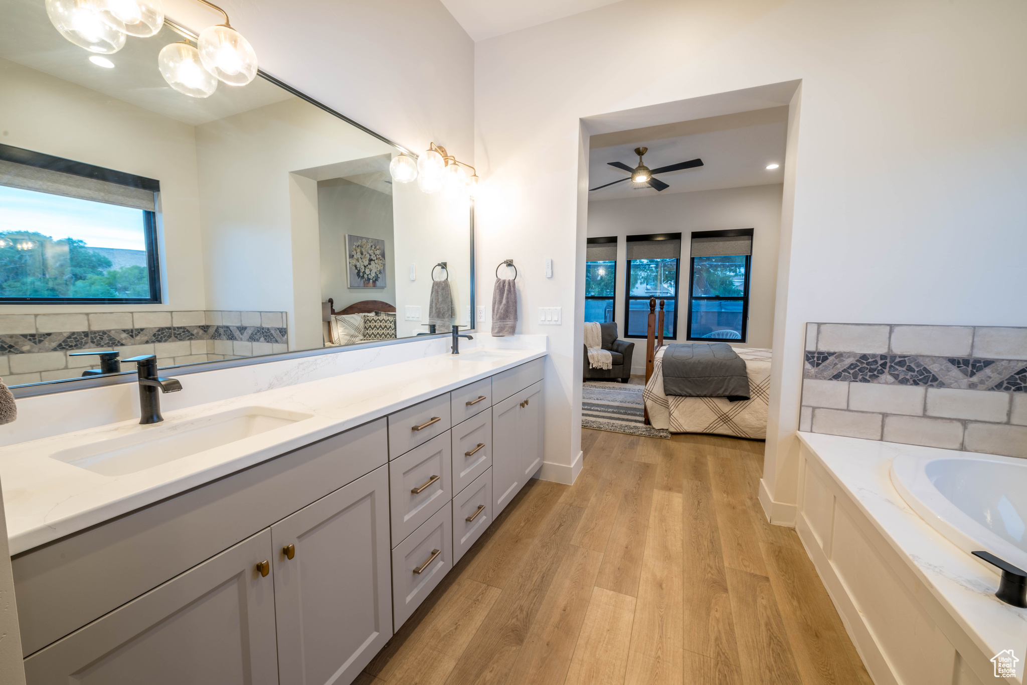
[[(634, 152), (636, 147), (649, 148), (644, 159), (649, 168), (695, 158), (701, 159), (703, 165), (655, 176), (670, 186), (662, 191), (648, 185), (636, 188), (631, 181), (623, 181), (589, 191), (589, 201), (782, 183), (785, 179), (787, 108), (761, 112), (763, 114), (757, 116), (731, 114), (636, 131), (593, 136), (588, 162), (589, 188), (630, 178), (631, 174), (610, 166), (608, 162), (619, 161), (634, 168), (639, 159)], [(637, 137), (633, 137), (633, 132)], [(668, 136), (673, 132), (685, 135)], [(768, 170), (766, 166), (771, 163), (779, 166)]]

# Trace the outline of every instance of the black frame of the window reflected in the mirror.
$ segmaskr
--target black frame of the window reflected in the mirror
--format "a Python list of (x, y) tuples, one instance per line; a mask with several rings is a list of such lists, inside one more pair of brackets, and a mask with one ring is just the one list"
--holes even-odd
[[(0, 159), (27, 166), (36, 166), (64, 174), (72, 174), (87, 179), (99, 179), (130, 188), (142, 188), (160, 192), (160, 182), (135, 174), (117, 172), (103, 166), (54, 157), (42, 152), (25, 150), (9, 145), (0, 145)], [(160, 257), (157, 246), (157, 215), (143, 212), (143, 235), (146, 241), (146, 267), (150, 297), (148, 298), (43, 298), (43, 297), (0, 297), (0, 304), (162, 304), (163, 294), (160, 280)]]

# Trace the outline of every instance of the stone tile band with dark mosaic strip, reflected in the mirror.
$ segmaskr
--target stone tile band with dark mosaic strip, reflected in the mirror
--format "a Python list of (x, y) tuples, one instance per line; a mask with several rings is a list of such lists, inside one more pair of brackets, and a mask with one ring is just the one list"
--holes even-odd
[(283, 311), (120, 311), (0, 314), (0, 377), (7, 385), (81, 376), (96, 356), (156, 354), (161, 367), (289, 351)]

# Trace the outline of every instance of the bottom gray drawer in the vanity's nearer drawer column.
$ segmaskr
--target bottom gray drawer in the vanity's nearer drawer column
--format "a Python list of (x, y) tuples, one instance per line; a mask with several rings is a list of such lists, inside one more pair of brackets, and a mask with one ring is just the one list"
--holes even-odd
[(393, 632), (400, 630), (453, 569), (452, 515), (453, 505), (446, 502), (446, 506), (392, 550)]

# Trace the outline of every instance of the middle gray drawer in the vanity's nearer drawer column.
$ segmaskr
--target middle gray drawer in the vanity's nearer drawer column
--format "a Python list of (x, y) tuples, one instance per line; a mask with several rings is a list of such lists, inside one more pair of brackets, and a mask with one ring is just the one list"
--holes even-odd
[(452, 453), (445, 432), (389, 462), (393, 547), (453, 497)]

